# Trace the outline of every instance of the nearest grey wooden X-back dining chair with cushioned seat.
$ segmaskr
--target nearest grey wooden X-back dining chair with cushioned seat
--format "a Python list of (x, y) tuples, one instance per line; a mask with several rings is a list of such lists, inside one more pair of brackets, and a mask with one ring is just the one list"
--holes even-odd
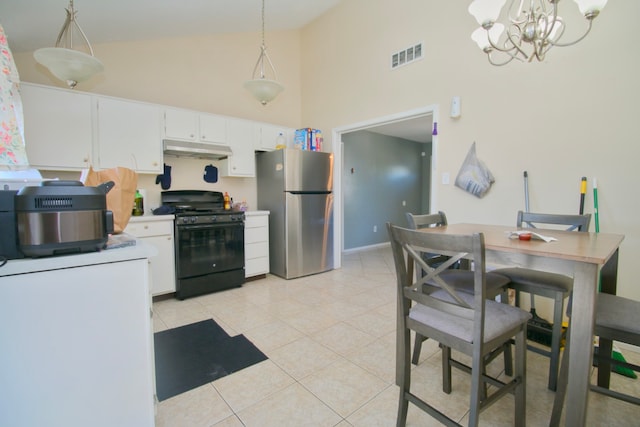
[[(471, 357), (469, 425), (477, 426), (480, 412), (507, 393), (515, 395), (514, 422), (525, 425), (526, 406), (526, 330), (531, 315), (526, 311), (488, 298), (484, 235), (447, 235), (402, 228), (387, 223), (396, 270), (398, 310), (396, 368), (401, 372), (397, 426), (406, 425), (409, 403), (439, 422), (458, 425), (426, 400), (411, 392), (411, 331), (438, 341), (443, 349)], [(447, 255), (438, 267), (430, 267), (422, 252)], [(473, 262), (473, 290), (455, 289), (442, 277), (453, 263)], [(417, 278), (414, 266), (426, 275)], [(432, 280), (439, 286), (424, 287)], [(515, 339), (515, 375), (502, 382), (484, 373), (485, 357), (495, 348)], [(444, 362), (443, 362), (444, 363)], [(486, 385), (492, 385), (484, 395)], [(450, 391), (447, 391), (450, 393)]]

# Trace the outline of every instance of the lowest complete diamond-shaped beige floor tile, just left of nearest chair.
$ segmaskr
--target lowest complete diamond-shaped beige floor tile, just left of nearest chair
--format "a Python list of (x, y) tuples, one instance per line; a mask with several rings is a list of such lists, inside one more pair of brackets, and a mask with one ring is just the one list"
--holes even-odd
[(380, 378), (347, 360), (338, 360), (300, 383), (342, 417), (387, 387)]

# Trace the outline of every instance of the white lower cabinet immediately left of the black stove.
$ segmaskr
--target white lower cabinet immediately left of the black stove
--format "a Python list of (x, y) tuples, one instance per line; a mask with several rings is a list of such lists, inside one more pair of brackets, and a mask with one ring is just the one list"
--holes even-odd
[(132, 217), (124, 232), (142, 239), (158, 249), (158, 255), (149, 258), (151, 294), (156, 296), (175, 292), (173, 217), (152, 217), (152, 219)]

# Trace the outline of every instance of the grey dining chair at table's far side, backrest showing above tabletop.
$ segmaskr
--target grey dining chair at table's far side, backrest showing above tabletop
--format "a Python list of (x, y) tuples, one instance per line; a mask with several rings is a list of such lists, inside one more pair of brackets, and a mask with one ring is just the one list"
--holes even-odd
[[(584, 215), (560, 215), (560, 214), (544, 214), (519, 211), (516, 226), (518, 228), (560, 228), (567, 231), (589, 230), (591, 222), (591, 214)], [(493, 270), (494, 273), (502, 274), (509, 278), (511, 283), (509, 287), (515, 290), (515, 304), (520, 306), (520, 293), (526, 292), (531, 296), (532, 313), (535, 313), (535, 304), (533, 303), (535, 296), (542, 296), (553, 299), (553, 322), (551, 326), (551, 336), (549, 340), (549, 350), (540, 348), (539, 346), (529, 345), (529, 350), (549, 357), (549, 379), (547, 387), (549, 390), (556, 390), (558, 383), (558, 368), (560, 364), (560, 344), (562, 341), (563, 328), (563, 309), (564, 300), (569, 296), (573, 289), (573, 278), (558, 273), (550, 273), (547, 271), (533, 270), (529, 268), (510, 267), (499, 268)], [(547, 330), (539, 328), (539, 322), (531, 322), (529, 325), (530, 337), (537, 334), (538, 337), (548, 336)]]

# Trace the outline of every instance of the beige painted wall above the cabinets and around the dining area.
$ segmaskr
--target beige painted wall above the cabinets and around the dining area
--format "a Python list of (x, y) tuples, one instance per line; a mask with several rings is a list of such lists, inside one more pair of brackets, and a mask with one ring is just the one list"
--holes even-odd
[[(433, 209), (445, 210), (451, 222), (513, 224), (524, 206), (527, 170), (532, 210), (577, 212), (580, 177), (587, 176), (586, 210), (592, 212), (591, 179), (597, 177), (601, 231), (626, 235), (619, 291), (640, 299), (633, 270), (640, 255), (633, 176), (640, 158), (634, 120), (640, 2), (609, 2), (578, 45), (552, 50), (544, 63), (506, 67), (490, 66), (470, 40), (476, 23), (467, 5), (343, 0), (300, 32), (268, 33), (269, 52), (287, 89), (266, 108), (241, 87), (258, 56), (258, 34), (97, 45), (107, 71), (80, 89), (291, 127), (311, 125), (327, 139), (335, 128), (439, 105)], [(575, 5), (562, 2), (561, 8)], [(582, 25), (567, 18), (570, 26)], [(425, 59), (391, 71), (391, 53), (419, 41)], [(17, 54), (16, 62), (23, 80), (59, 84), (35, 67), (29, 53)], [(462, 98), (456, 120), (448, 117), (454, 95)], [(455, 177), (473, 141), (496, 177), (483, 199), (439, 179), (443, 172)], [(190, 165), (180, 163), (174, 173), (192, 173)], [(206, 186), (197, 176), (182, 184)], [(255, 191), (251, 182), (237, 182), (220, 186)]]

